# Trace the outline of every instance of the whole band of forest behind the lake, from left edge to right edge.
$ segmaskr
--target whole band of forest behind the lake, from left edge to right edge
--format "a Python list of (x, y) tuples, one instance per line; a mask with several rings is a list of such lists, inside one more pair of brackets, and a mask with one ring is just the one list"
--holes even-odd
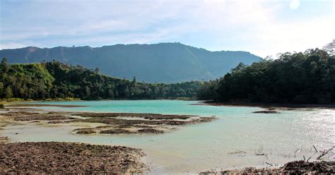
[(0, 65), (0, 98), (211, 99), (216, 102), (334, 103), (335, 55), (322, 49), (237, 65), (207, 82), (144, 83), (59, 61)]

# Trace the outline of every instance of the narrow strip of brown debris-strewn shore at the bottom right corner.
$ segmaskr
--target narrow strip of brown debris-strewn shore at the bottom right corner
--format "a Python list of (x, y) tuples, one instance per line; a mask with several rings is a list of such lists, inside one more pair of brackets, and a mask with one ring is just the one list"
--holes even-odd
[(212, 174), (335, 174), (335, 162), (317, 161), (305, 162), (303, 160), (288, 162), (279, 168), (247, 167), (245, 169), (223, 170), (223, 171), (204, 171), (200, 175)]

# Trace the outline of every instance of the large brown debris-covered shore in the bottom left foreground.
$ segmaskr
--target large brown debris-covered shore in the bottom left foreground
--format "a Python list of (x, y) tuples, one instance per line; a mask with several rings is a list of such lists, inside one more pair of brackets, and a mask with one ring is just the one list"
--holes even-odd
[(0, 174), (141, 173), (143, 152), (83, 143), (0, 143)]

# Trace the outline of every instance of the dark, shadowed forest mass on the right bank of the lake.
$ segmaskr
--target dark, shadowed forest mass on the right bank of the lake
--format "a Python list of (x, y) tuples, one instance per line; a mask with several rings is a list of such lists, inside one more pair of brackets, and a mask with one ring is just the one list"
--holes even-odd
[(204, 83), (199, 99), (217, 102), (335, 102), (335, 56), (322, 49), (281, 54), (251, 66), (239, 64), (223, 78)]

